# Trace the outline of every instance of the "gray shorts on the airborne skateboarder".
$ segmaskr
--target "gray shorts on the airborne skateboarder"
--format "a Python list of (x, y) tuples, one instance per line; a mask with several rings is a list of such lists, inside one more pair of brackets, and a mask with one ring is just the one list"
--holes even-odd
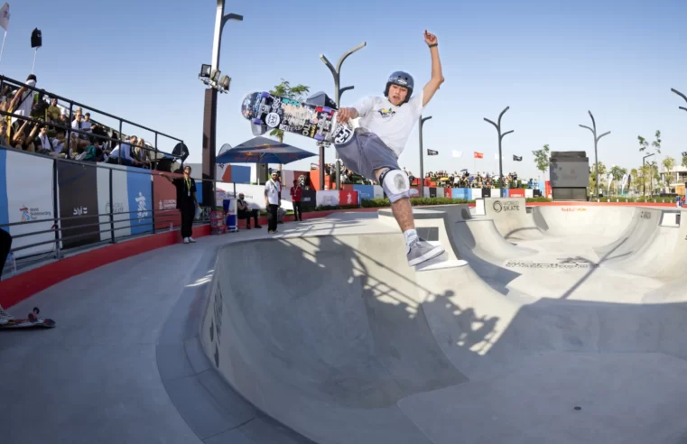
[(380, 168), (400, 170), (396, 154), (382, 142), (382, 139), (365, 128), (356, 128), (348, 143), (334, 147), (346, 168), (366, 179), (376, 181), (373, 171)]

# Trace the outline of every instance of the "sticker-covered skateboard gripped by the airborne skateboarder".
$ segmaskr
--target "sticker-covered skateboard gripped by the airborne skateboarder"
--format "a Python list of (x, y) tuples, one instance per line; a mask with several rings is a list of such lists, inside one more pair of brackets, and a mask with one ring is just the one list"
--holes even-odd
[(320, 143), (347, 143), (353, 137), (350, 124), (337, 122), (337, 108), (318, 106), (268, 92), (246, 94), (241, 114), (251, 122), (254, 135), (270, 128), (300, 134)]

